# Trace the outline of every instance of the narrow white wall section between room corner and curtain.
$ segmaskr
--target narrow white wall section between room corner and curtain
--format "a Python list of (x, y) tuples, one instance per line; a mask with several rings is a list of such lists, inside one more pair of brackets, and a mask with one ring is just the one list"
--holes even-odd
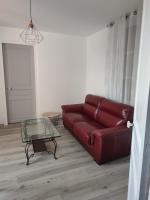
[(86, 93), (107, 96), (105, 85), (108, 29), (87, 38)]

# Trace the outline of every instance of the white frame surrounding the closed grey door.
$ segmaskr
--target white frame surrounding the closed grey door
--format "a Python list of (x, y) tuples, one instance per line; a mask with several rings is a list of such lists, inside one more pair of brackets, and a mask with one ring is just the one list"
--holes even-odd
[(35, 94), (35, 115), (37, 116), (37, 45), (28, 45), (24, 44), (23, 42), (19, 41), (11, 41), (11, 40), (2, 40), (0, 41), (0, 92), (2, 97), (2, 108), (3, 108), (3, 123), (5, 126), (8, 125), (8, 116), (7, 116), (7, 100), (6, 100), (6, 90), (5, 90), (5, 73), (4, 73), (4, 61), (3, 61), (3, 44), (18, 44), (24, 46), (32, 46), (33, 47), (33, 54), (34, 54), (34, 94)]

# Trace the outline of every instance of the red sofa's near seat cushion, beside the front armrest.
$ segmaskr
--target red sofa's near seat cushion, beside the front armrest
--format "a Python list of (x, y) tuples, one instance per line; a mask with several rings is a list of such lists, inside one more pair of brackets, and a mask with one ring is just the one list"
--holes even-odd
[(104, 126), (94, 122), (77, 122), (73, 126), (73, 132), (76, 138), (80, 140), (81, 143), (88, 145), (91, 142), (90, 134), (96, 129), (103, 129)]

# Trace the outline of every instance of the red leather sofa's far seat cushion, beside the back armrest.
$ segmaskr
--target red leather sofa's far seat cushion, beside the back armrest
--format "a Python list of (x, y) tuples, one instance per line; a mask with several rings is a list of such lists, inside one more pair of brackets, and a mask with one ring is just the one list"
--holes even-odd
[(75, 122), (89, 121), (89, 118), (82, 113), (64, 113), (63, 121), (70, 130), (73, 130)]

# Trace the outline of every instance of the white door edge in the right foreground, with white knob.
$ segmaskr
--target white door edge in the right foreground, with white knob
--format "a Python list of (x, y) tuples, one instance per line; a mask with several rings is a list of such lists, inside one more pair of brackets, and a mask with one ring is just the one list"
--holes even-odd
[(146, 200), (150, 158), (150, 0), (144, 0), (128, 200)]

